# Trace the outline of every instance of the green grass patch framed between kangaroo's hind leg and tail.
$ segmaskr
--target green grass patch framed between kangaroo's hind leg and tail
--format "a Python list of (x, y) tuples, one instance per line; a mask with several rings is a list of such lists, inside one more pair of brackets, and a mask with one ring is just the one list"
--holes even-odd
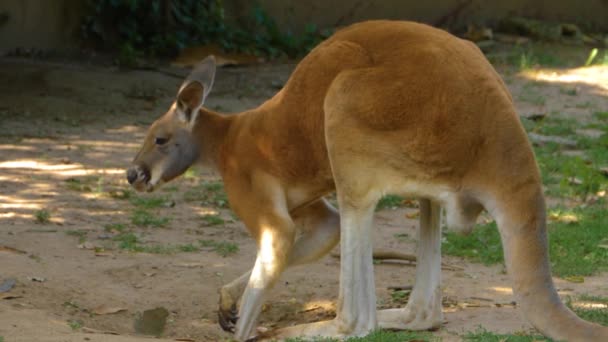
[(485, 265), (496, 264), (504, 259), (495, 222), (479, 225), (469, 235), (446, 231), (441, 248), (444, 254), (466, 257)]

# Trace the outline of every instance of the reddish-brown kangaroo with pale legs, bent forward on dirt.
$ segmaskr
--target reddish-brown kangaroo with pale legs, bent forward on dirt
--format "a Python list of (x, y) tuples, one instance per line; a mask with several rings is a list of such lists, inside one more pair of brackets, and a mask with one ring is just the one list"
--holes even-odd
[[(494, 217), (518, 306), (538, 330), (608, 341), (608, 328), (557, 295), (539, 169), (505, 84), (473, 43), (418, 23), (355, 24), (313, 49), (270, 100), (232, 115), (203, 107), (214, 77), (209, 57), (151, 125), (127, 178), (153, 191), (194, 163), (219, 172), (258, 245), (252, 270), (220, 290), (219, 323), (237, 340), (255, 335), (264, 295), (287, 267), (338, 241), (336, 318), (274, 337), (439, 327), (443, 206), (463, 231), (483, 209)], [(324, 199), (334, 191), (339, 211)], [(418, 263), (407, 305), (377, 311), (372, 218), (389, 193), (419, 198)]]

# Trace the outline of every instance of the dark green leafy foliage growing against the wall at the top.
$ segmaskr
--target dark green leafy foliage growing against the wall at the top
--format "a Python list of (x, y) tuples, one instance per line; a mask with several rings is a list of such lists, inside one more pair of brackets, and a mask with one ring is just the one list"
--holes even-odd
[(143, 56), (174, 56), (187, 46), (216, 44), (225, 51), (290, 57), (310, 50), (331, 32), (307, 26), (296, 36), (254, 7), (245, 27), (225, 20), (222, 0), (89, 0), (82, 38), (119, 53), (121, 65)]

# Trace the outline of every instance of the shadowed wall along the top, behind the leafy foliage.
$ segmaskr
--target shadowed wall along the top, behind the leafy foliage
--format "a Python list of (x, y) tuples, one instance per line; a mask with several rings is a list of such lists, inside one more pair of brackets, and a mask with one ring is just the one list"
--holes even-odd
[[(15, 48), (77, 46), (84, 0), (0, 0), (0, 54)], [(226, 14), (241, 20), (255, 3), (281, 28), (307, 24), (339, 27), (365, 19), (409, 19), (462, 30), (494, 24), (509, 15), (574, 22), (608, 32), (608, 0), (224, 0)], [(8, 15), (3, 23), (2, 14)]]

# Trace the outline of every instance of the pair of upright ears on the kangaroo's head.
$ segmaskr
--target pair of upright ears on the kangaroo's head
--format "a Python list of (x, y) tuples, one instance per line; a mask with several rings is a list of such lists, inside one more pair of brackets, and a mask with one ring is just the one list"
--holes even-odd
[(182, 121), (192, 124), (196, 121), (199, 109), (215, 79), (215, 57), (209, 56), (202, 60), (188, 75), (177, 92), (177, 107)]

